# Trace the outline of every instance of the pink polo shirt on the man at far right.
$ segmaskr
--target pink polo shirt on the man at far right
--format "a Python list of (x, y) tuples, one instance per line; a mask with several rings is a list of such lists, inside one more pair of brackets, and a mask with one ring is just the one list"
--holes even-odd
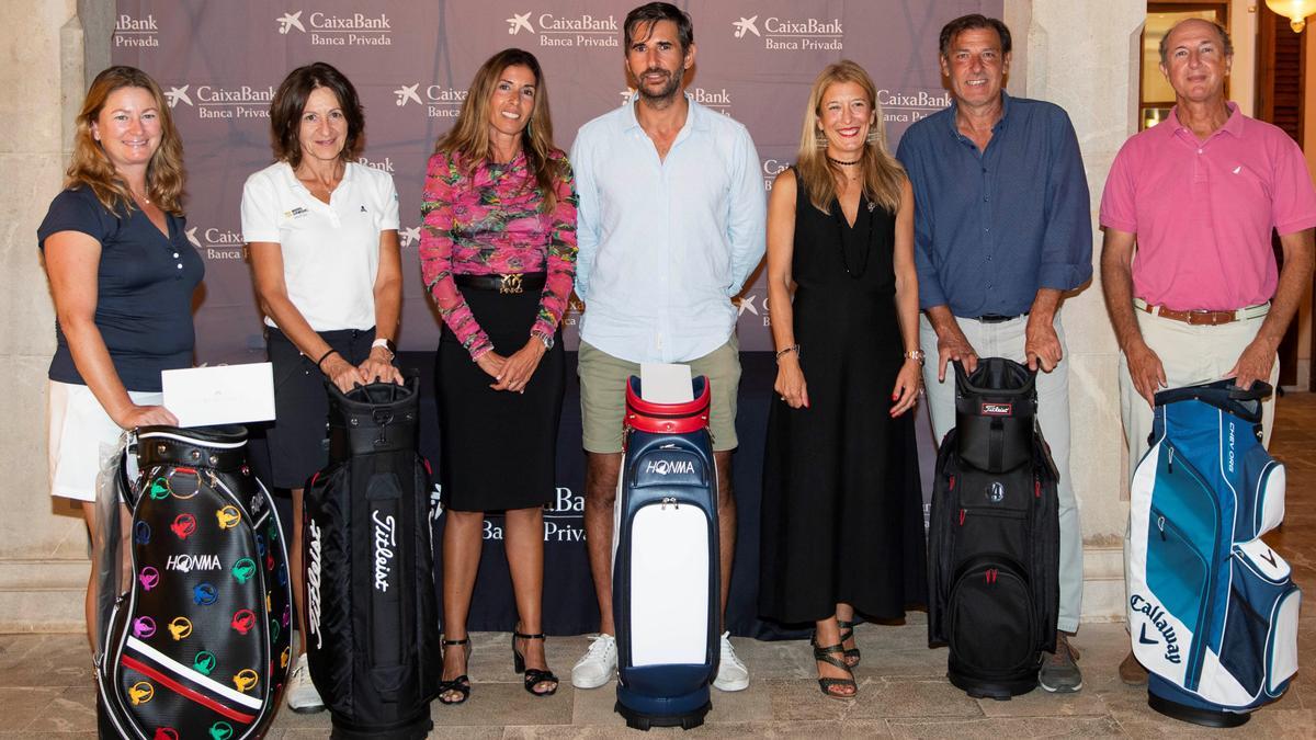
[(1124, 142), (1101, 194), (1101, 225), (1137, 234), (1133, 295), (1177, 311), (1271, 299), (1271, 228), (1316, 226), (1316, 188), (1298, 144), (1229, 103), (1202, 142), (1170, 117)]

